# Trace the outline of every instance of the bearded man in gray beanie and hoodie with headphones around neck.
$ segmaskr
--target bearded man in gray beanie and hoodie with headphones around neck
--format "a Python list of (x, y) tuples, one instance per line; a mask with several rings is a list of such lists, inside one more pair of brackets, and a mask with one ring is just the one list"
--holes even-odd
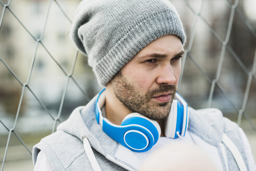
[(177, 142), (199, 146), (218, 170), (255, 168), (236, 124), (176, 94), (186, 35), (170, 2), (82, 1), (70, 35), (105, 89), (34, 146), (35, 170), (138, 170)]

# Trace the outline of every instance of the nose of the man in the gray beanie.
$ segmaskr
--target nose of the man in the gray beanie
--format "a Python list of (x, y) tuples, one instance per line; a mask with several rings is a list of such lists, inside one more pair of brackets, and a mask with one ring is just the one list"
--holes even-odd
[(174, 76), (173, 67), (171, 65), (166, 65), (161, 67), (159, 71), (159, 76), (156, 78), (156, 83), (174, 85), (175, 82), (176, 82), (176, 78)]

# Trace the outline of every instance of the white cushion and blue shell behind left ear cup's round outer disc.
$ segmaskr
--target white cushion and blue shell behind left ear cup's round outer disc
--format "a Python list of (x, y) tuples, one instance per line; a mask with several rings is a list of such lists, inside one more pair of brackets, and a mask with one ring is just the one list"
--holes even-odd
[(125, 125), (140, 125), (145, 129), (148, 129), (148, 131), (153, 136), (153, 139), (154, 139), (153, 144), (157, 142), (157, 140), (160, 138), (160, 135), (161, 135), (161, 128), (157, 123), (157, 121), (151, 120), (139, 113), (131, 113), (127, 115), (121, 123), (121, 126), (125, 126)]

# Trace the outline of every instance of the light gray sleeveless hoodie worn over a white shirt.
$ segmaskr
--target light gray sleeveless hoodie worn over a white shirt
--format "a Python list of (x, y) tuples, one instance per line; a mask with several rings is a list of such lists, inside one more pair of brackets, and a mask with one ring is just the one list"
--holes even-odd
[[(92, 170), (88, 156), (83, 148), (82, 138), (90, 142), (93, 153), (102, 170), (138, 170), (132, 157), (120, 159), (120, 145), (108, 137), (95, 119), (95, 102), (97, 95), (86, 105), (76, 108), (70, 117), (57, 127), (57, 131), (43, 138), (33, 148), (33, 163), (42, 151), (54, 170)], [(225, 157), (221, 149), (223, 133), (235, 144), (249, 170), (245, 147), (242, 143), (239, 127), (224, 118), (217, 109), (194, 110), (189, 108), (188, 130), (206, 143), (216, 146), (226, 170)], [(233, 154), (225, 146), (229, 170), (239, 170)], [(130, 150), (124, 148), (121, 155), (132, 156)], [(138, 163), (138, 162), (137, 162)]]

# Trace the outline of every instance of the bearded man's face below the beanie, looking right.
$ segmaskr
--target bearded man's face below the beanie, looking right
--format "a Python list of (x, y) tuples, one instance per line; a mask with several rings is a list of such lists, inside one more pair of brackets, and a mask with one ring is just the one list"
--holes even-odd
[(159, 120), (175, 96), (184, 48), (176, 35), (162, 36), (145, 46), (111, 80), (117, 99), (131, 112)]

